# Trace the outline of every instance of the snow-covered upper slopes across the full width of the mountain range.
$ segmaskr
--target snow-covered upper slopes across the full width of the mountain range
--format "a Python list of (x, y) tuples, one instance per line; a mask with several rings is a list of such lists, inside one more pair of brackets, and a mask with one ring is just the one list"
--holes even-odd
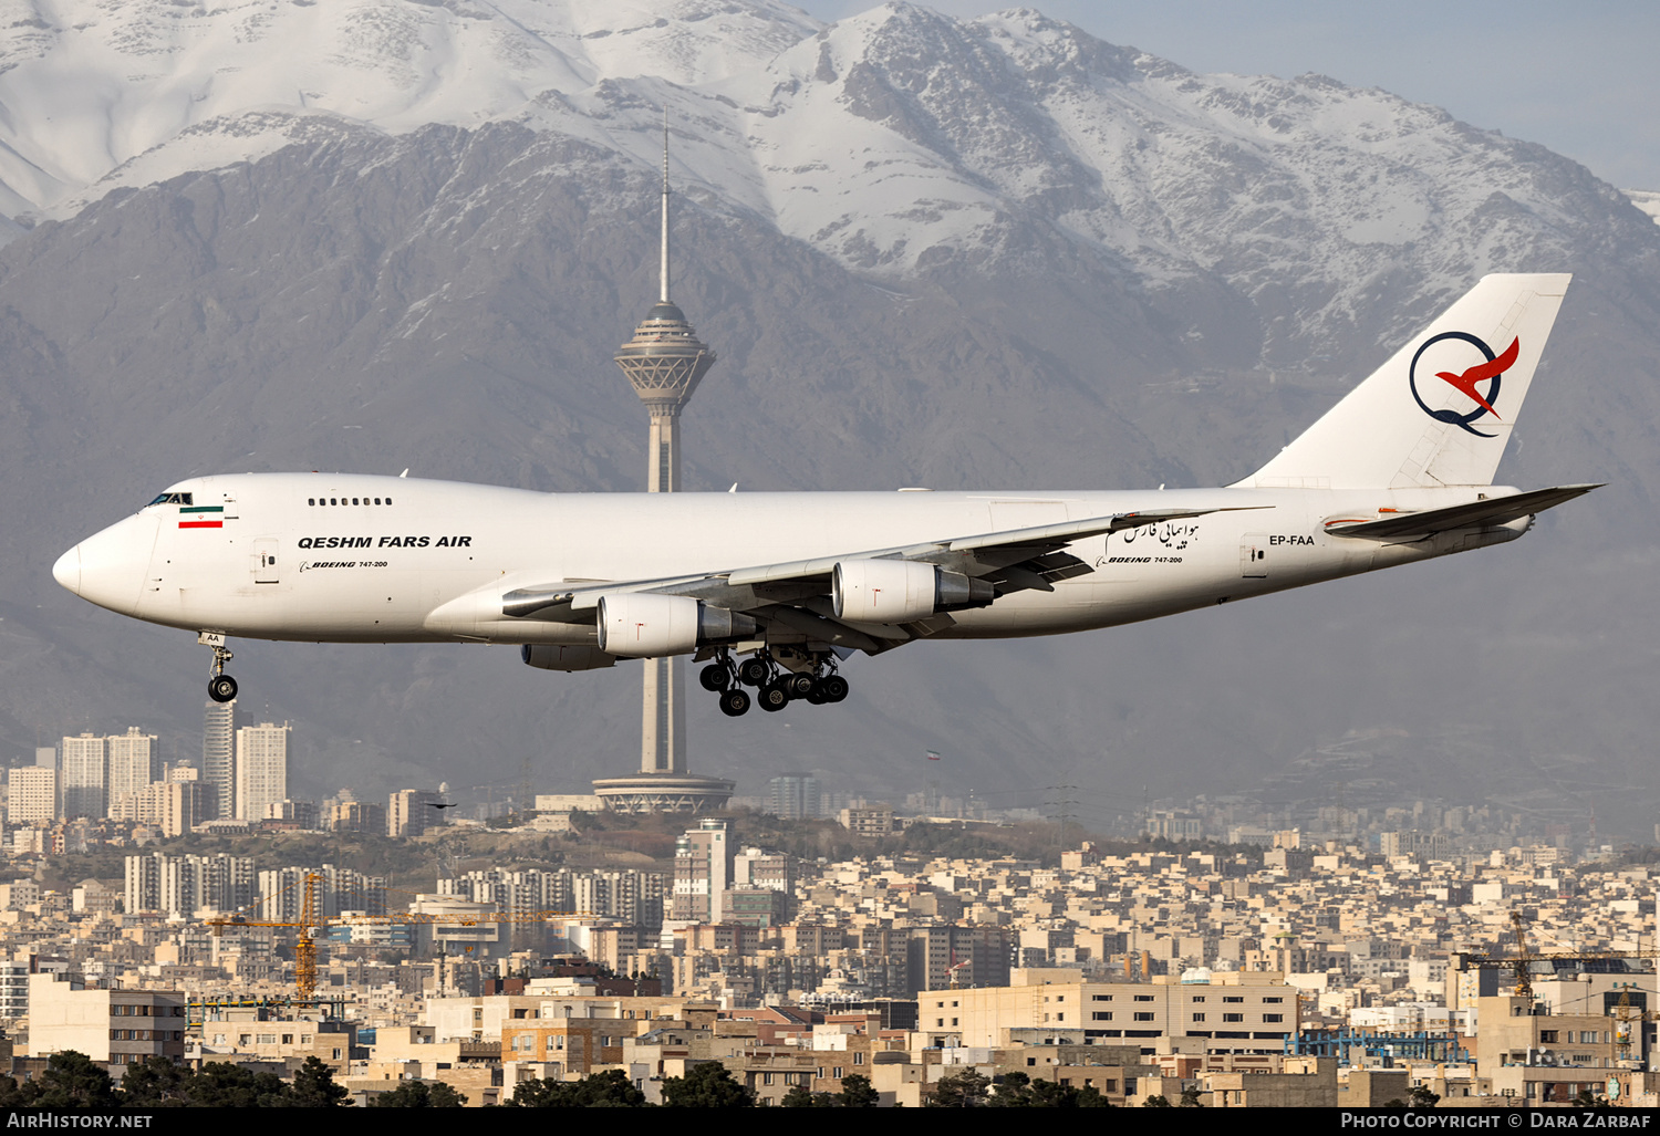
[(1564, 255), (1625, 204), (1431, 106), (1200, 76), (1031, 10), (964, 23), (890, 3), (818, 27), (769, 0), (8, 7), (12, 214), (71, 216), (354, 128), (520, 123), (651, 167), (666, 108), (682, 189), (850, 269), (1018, 267), (1009, 222), (1031, 217), (1149, 287), (1225, 279), (1275, 313), (1263, 362), (1295, 367), (1310, 337), (1366, 322), (1393, 272), (1433, 307), (1494, 250)]

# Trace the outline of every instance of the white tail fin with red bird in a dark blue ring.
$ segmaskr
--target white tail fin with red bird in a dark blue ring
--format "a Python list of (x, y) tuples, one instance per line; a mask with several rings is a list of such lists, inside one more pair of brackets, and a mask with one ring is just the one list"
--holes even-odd
[(1238, 488), (1492, 484), (1570, 279), (1482, 277)]

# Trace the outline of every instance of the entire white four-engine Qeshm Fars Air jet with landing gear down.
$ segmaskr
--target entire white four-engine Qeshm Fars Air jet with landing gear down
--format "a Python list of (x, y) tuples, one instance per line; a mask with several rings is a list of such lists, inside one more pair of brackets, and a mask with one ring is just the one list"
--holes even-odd
[(1220, 489), (561, 494), (339, 473), (191, 478), (63, 554), (76, 595), (226, 640), (696, 655), (732, 716), (840, 702), (923, 638), (1054, 635), (1514, 541), (1595, 486), (1492, 486), (1567, 275), (1489, 275)]

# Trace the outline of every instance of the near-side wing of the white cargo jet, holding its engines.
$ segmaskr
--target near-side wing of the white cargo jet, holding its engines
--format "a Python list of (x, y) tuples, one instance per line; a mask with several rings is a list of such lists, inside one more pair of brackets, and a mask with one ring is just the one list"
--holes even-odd
[[(606, 580), (526, 587), (501, 597), (505, 615), (551, 622), (588, 622), (603, 595), (621, 592), (661, 592), (687, 595), (710, 607), (744, 612), (848, 650), (878, 653), (911, 638), (931, 635), (954, 620), (950, 614), (931, 615), (915, 624), (855, 624), (835, 617), (830, 575), (842, 561), (918, 561), (950, 572), (986, 580), (994, 599), (1026, 589), (1054, 590), (1057, 580), (1092, 572), (1087, 564), (1062, 549), (1092, 536), (1134, 529), (1155, 521), (1199, 517), (1240, 506), (1215, 509), (1139, 509), (1086, 521), (1041, 524), (1029, 529), (1006, 529), (978, 536), (946, 537), (888, 549), (867, 549), (822, 556), (808, 561), (757, 564), (702, 575), (679, 575), (651, 580)], [(1252, 507), (1252, 506), (1245, 506)]]

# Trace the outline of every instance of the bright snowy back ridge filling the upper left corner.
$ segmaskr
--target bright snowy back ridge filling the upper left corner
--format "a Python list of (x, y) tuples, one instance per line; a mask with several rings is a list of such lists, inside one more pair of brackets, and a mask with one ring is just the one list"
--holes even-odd
[(712, 83), (813, 32), (724, 0), (7, 0), (5, 211), (262, 158), (309, 118), (405, 133), (556, 114), (608, 81)]

